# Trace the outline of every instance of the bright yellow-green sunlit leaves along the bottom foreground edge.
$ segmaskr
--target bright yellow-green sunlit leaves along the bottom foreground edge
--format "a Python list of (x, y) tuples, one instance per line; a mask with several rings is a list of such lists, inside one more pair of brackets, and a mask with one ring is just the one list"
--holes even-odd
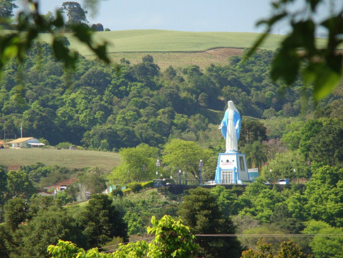
[(193, 257), (197, 254), (199, 245), (194, 242), (194, 235), (190, 229), (182, 225), (180, 220), (173, 220), (168, 215), (161, 220), (151, 218), (151, 228), (148, 233), (155, 235), (151, 243), (144, 240), (131, 242), (127, 245), (120, 244), (112, 254), (104, 254), (98, 248), (84, 249), (76, 247), (72, 242), (59, 240), (57, 245), (47, 247), (52, 257)]

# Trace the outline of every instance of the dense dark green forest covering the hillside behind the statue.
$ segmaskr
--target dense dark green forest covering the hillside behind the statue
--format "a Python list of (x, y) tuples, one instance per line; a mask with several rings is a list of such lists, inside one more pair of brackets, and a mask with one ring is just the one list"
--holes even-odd
[(50, 145), (71, 142), (98, 150), (141, 142), (158, 147), (170, 138), (207, 142), (209, 123), (218, 123), (218, 111), (226, 103), (220, 99), (235, 100), (243, 116), (262, 118), (270, 108), (275, 116), (300, 112), (300, 84), (280, 99), (282, 84), (269, 79), (273, 55), (263, 50), (247, 63), (235, 57), (204, 72), (196, 66), (161, 72), (151, 56), (139, 64), (124, 62), (117, 72), (81, 57), (71, 74), (54, 59), (49, 45), (37, 43), (23, 64), (11, 62), (3, 69), (0, 109), (5, 123), (0, 129), (15, 138), (23, 124), (25, 135), (45, 138)]

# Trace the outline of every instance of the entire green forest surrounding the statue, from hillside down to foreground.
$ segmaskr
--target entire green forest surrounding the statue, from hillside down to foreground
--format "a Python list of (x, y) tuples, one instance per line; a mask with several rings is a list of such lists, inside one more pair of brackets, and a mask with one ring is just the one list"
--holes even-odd
[[(265, 255), (284, 252), (278, 248), (291, 239), (287, 234), (302, 234), (296, 243), (304, 253), (341, 257), (342, 85), (315, 103), (312, 89), (300, 80), (290, 89), (272, 82), (274, 55), (261, 50), (247, 62), (231, 57), (204, 71), (197, 66), (161, 71), (152, 55), (134, 65), (123, 58), (113, 67), (80, 57), (72, 72), (54, 59), (50, 45), (36, 43), (25, 62), (6, 64), (0, 82), (0, 130), (6, 139), (18, 138), (22, 126), (23, 137), (119, 152), (122, 163), (111, 174), (39, 163), (18, 172), (0, 167), (1, 256), (47, 257), (47, 246), (59, 239), (84, 249), (117, 245), (135, 235), (147, 237), (146, 228), (154, 225), (151, 216), (168, 214), (181, 218), (192, 234), (245, 235), (230, 241), (198, 237), (199, 253), (206, 257), (228, 252), (240, 257), (249, 248), (257, 252), (255, 247), (267, 244), (246, 235), (270, 233), (283, 237), (267, 238), (271, 246), (262, 249)], [(181, 175), (175, 171), (182, 169), (189, 179), (199, 176), (202, 159), (204, 178), (213, 179), (216, 157), (224, 149), (218, 125), (228, 100), (243, 117), (240, 152), (246, 153), (249, 167), (260, 168), (260, 179), (245, 189), (216, 186), (180, 196), (134, 184), (156, 178), (156, 159), (165, 176), (177, 178)], [(131, 198), (139, 194), (123, 196), (118, 189), (110, 196), (93, 195), (83, 205), (64, 206), (75, 200), (74, 187), (56, 199), (35, 195), (36, 189), (74, 176), (93, 194), (107, 181), (128, 184), (132, 193), (146, 196)], [(284, 188), (264, 184), (279, 178), (293, 182)], [(295, 184), (300, 178), (307, 183)]]

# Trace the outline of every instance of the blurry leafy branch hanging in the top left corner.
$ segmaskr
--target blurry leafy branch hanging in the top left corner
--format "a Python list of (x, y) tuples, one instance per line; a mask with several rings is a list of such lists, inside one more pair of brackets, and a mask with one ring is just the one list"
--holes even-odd
[[(66, 23), (61, 11), (57, 11), (56, 18), (47, 19), (38, 11), (38, 1), (28, 0), (30, 11), (21, 11), (16, 18), (16, 30), (0, 35), (0, 69), (6, 62), (18, 58), (23, 62), (25, 53), (32, 47), (39, 33), (50, 33), (52, 35), (52, 49), (57, 60), (64, 63), (66, 68), (74, 68), (78, 60), (77, 52), (71, 52), (64, 43), (62, 35), (57, 33), (62, 30)], [(100, 60), (110, 63), (106, 55), (107, 43), (98, 45), (92, 38), (91, 28), (83, 23), (69, 26), (71, 33), (85, 43)]]

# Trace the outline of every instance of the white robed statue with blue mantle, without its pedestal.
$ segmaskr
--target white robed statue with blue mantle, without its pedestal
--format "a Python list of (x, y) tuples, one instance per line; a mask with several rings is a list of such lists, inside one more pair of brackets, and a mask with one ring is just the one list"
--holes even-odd
[(228, 109), (225, 111), (223, 120), (221, 120), (221, 134), (226, 140), (226, 153), (238, 152), (238, 139), (240, 135), (240, 114), (233, 104), (228, 101)]

